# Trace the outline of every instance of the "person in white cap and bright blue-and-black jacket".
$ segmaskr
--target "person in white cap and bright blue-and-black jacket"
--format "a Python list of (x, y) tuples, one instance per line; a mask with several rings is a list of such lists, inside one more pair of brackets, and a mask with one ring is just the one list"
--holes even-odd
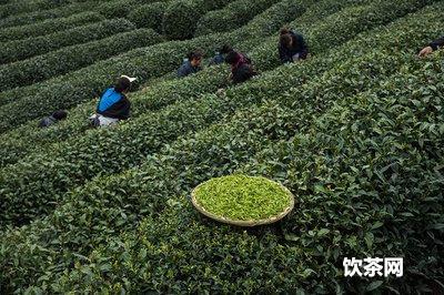
[(130, 91), (131, 83), (134, 80), (137, 78), (121, 75), (114, 87), (103, 92), (95, 113), (90, 116), (90, 125), (117, 124), (119, 120), (130, 118), (131, 103), (125, 94)]

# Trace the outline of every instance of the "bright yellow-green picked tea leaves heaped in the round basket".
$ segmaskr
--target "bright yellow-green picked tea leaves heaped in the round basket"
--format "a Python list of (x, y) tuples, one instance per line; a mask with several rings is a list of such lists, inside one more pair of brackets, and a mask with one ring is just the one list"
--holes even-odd
[(292, 194), (281, 184), (258, 176), (230, 175), (200, 185), (194, 196), (206, 211), (236, 221), (258, 221), (282, 213)]

